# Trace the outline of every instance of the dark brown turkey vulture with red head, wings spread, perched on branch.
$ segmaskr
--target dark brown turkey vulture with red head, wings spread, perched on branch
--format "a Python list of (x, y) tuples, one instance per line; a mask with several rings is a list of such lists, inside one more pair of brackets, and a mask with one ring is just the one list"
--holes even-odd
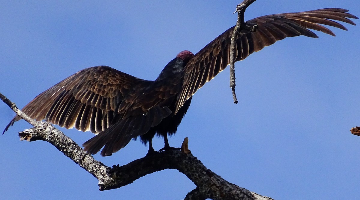
[[(247, 21), (257, 30), (240, 30), (236, 37), (235, 60), (240, 61), (285, 37), (305, 35), (317, 38), (313, 29), (329, 35), (322, 25), (347, 30), (336, 21), (355, 25), (348, 10), (326, 8), (298, 13), (265, 15)], [(36, 120), (46, 120), (67, 129), (75, 127), (97, 135), (83, 146), (89, 154), (101, 148), (109, 156), (140, 136), (154, 151), (155, 134), (165, 140), (163, 150), (171, 148), (167, 134), (177, 126), (190, 106), (192, 95), (229, 65), (230, 40), (234, 27), (211, 41), (197, 54), (180, 52), (154, 81), (139, 79), (108, 66), (81, 70), (39, 94), (22, 111)], [(4, 132), (21, 119), (15, 116)]]

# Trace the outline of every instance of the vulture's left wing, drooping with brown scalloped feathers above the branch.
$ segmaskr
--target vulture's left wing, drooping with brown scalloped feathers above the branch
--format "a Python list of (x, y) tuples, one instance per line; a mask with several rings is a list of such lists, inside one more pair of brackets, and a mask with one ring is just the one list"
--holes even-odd
[[(22, 111), (38, 121), (100, 133), (111, 125), (124, 97), (149, 82), (108, 66), (90, 67), (39, 94)], [(15, 116), (4, 132), (19, 119)]]

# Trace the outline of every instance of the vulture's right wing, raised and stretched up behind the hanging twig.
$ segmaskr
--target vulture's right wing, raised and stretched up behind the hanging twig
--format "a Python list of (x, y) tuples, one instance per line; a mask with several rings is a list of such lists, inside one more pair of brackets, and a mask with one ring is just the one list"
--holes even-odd
[[(347, 30), (343, 25), (333, 21), (337, 20), (355, 25), (348, 18), (357, 19), (357, 17), (346, 12), (348, 10), (325, 8), (307, 12), (266, 15), (247, 21), (248, 25), (257, 24), (258, 27), (255, 32), (246, 30), (239, 32), (236, 37), (234, 61), (243, 60), (253, 52), (257, 52), (285, 37), (305, 35), (317, 38), (318, 36), (309, 29), (335, 36), (332, 31), (322, 25)], [(218, 36), (195, 54), (185, 66), (184, 83), (176, 103), (175, 113), (199, 88), (229, 65), (233, 30), (234, 27), (231, 27)]]

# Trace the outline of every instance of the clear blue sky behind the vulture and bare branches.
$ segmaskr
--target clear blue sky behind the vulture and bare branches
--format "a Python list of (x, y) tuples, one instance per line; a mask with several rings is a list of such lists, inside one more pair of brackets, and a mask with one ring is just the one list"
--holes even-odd
[[(236, 22), (240, 1), (1, 1), (0, 92), (23, 107), (86, 67), (108, 65), (156, 79), (182, 50), (198, 52)], [(338, 7), (360, 16), (357, 0), (258, 0), (246, 19)], [(360, 24), (359, 20), (355, 23)], [(356, 199), (360, 195), (360, 26), (331, 28), (319, 39), (287, 38), (236, 63), (233, 104), (229, 70), (194, 95), (171, 146), (189, 137), (205, 166), (231, 183), (275, 199)], [(14, 113), (0, 103), (0, 127)], [(111, 191), (49, 143), (20, 142), (15, 124), (0, 136), (3, 199), (183, 199), (195, 188), (164, 170)], [(92, 133), (61, 128), (82, 144)], [(163, 139), (154, 140), (163, 147)], [(131, 141), (105, 165), (127, 164), (147, 147)]]

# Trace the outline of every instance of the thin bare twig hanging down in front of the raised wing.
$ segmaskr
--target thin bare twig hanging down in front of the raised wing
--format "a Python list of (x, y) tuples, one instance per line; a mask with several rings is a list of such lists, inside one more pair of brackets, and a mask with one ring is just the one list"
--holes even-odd
[(235, 65), (234, 65), (234, 52), (236, 48), (236, 36), (238, 32), (244, 28), (246, 28), (246, 24), (244, 22), (244, 13), (246, 8), (252, 4), (256, 0), (244, 0), (242, 3), (238, 4), (236, 7), (236, 12), (238, 12), (238, 21), (236, 22), (233, 35), (231, 36), (230, 43), (230, 88), (233, 92), (234, 103), (238, 103), (238, 99), (236, 98), (235, 93)]

